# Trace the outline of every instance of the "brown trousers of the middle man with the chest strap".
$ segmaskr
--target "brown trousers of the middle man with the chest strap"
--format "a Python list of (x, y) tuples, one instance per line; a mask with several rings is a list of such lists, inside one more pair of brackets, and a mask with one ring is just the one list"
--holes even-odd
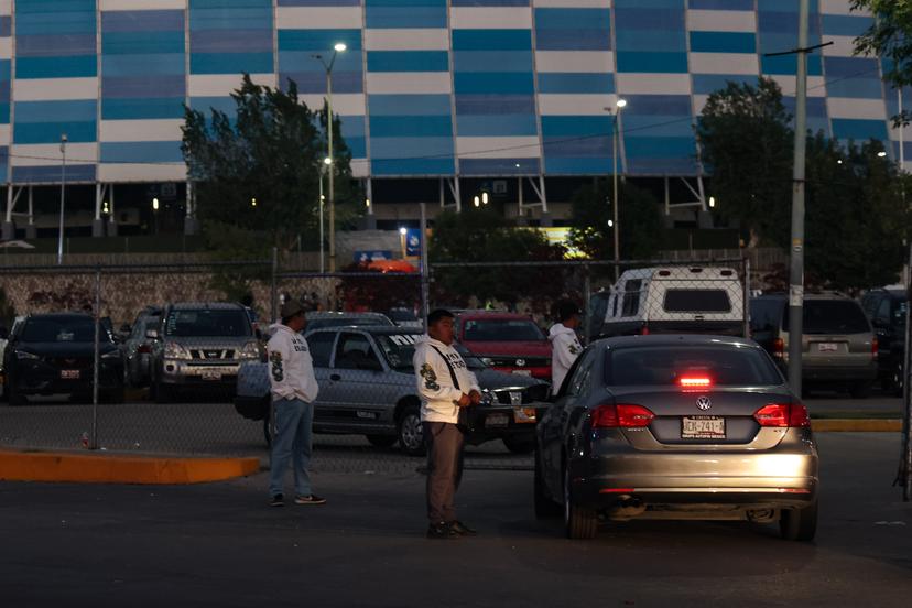
[(427, 519), (453, 521), (453, 501), (463, 478), (463, 432), (448, 422), (424, 422), (427, 445)]

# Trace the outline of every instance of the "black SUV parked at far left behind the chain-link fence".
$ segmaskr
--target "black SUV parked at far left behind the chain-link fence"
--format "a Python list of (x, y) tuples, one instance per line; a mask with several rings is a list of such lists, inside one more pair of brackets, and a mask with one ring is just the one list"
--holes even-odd
[[(4, 350), (6, 397), (21, 405), (33, 395), (68, 394), (89, 400), (95, 369), (95, 321), (82, 313), (26, 316), (17, 323)], [(123, 358), (99, 327), (99, 399), (123, 401)]]

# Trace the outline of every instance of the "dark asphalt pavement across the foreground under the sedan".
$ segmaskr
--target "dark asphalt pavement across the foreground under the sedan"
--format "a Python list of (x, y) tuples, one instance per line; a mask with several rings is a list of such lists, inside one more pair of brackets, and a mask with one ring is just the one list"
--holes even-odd
[(480, 530), (423, 538), (415, 473), (317, 473), (325, 507), (265, 507), (264, 474), (191, 487), (0, 484), (8, 606), (871, 606), (912, 598), (898, 434), (819, 436), (813, 544), (772, 526), (631, 522), (594, 542), (538, 521), (528, 471), (475, 470)]

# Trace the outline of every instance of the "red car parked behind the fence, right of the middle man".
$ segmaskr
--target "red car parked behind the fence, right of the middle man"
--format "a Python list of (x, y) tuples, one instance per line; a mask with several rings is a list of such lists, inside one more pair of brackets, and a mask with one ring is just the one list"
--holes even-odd
[(551, 343), (526, 315), (464, 312), (456, 339), (498, 371), (551, 381)]

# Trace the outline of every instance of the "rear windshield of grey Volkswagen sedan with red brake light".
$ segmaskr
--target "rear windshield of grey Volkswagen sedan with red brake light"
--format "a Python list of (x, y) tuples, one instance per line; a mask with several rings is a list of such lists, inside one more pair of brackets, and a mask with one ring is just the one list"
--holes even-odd
[(675, 386), (682, 378), (707, 378), (720, 387), (783, 383), (769, 356), (737, 346), (639, 346), (609, 352), (610, 386)]

